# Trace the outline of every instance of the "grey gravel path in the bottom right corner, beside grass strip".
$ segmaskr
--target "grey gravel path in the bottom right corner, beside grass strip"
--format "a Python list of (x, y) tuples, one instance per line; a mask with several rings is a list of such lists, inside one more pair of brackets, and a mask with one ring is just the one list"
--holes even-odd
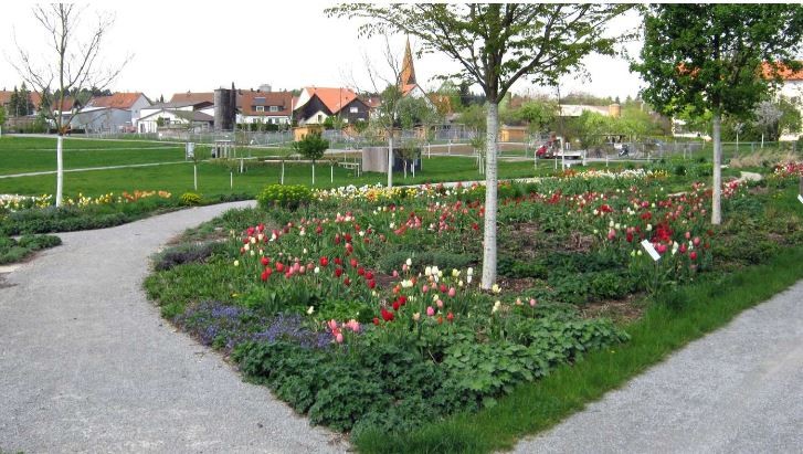
[(803, 452), (803, 281), (517, 453)]

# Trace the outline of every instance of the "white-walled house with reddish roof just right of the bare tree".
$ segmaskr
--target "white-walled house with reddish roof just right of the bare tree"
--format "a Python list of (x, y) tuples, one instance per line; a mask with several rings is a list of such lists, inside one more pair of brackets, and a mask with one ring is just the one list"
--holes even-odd
[(150, 106), (142, 93), (115, 93), (112, 96), (92, 98), (70, 123), (73, 129), (87, 133), (134, 131), (141, 109)]

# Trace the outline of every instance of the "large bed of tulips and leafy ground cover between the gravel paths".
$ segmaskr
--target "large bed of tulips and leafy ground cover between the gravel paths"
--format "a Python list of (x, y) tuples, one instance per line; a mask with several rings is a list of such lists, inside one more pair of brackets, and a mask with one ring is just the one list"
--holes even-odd
[[(262, 208), (194, 231), (192, 243), (213, 250), (146, 288), (166, 317), (311, 422), (382, 451), (381, 434), (410, 441), (450, 414), (493, 412), (561, 365), (627, 348), (628, 325), (589, 318), (596, 306), (631, 305), (633, 318), (683, 310), (686, 288), (803, 242), (794, 207), (776, 207), (792, 177), (729, 181), (733, 215), (714, 230), (710, 189), (661, 166), (503, 183), (501, 278), (488, 293), (475, 277), (476, 186), (349, 187), (311, 199), (266, 188)], [(642, 240), (662, 254), (657, 265)]]

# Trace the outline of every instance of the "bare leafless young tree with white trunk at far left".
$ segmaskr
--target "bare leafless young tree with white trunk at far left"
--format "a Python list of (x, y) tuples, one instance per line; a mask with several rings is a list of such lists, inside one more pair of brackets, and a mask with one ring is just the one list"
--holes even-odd
[[(87, 15), (86, 8), (72, 3), (35, 6), (33, 17), (45, 32), (45, 40), (50, 42), (45, 49), (52, 54), (42, 55), (43, 60), (38, 62), (39, 55), (32, 55), (17, 43), (18, 59), (11, 62), (20, 76), (42, 95), (40, 112), (52, 122), (57, 133), (56, 207), (61, 205), (63, 198), (63, 138), (76, 114), (74, 109), (63, 112), (67, 105), (67, 95), (71, 92), (87, 93), (82, 92), (83, 88), (105, 89), (130, 60), (127, 56), (115, 68), (102, 67), (101, 45), (114, 20), (98, 14), (96, 22), (88, 24), (85, 22)], [(75, 101), (84, 105), (88, 99)]]

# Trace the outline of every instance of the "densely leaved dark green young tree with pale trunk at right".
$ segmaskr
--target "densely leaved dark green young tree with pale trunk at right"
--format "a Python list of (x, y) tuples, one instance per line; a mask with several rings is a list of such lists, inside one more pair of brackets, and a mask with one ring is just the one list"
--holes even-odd
[(711, 223), (722, 222), (723, 115), (743, 116), (767, 96), (803, 40), (800, 4), (658, 4), (646, 14), (642, 63), (632, 67), (648, 86), (644, 98), (666, 114), (711, 114)]

